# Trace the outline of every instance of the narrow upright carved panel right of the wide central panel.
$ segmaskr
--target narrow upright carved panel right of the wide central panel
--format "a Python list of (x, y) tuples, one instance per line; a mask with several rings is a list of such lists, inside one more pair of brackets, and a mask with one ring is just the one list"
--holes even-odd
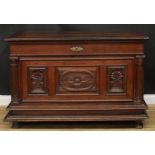
[(108, 94), (126, 93), (127, 66), (109, 66), (108, 75)]

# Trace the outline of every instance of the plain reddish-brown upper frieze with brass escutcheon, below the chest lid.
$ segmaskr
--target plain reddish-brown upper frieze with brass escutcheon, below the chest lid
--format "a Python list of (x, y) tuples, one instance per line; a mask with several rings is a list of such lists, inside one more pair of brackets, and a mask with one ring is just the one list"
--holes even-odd
[(20, 42), (12, 43), (10, 54), (11, 56), (143, 54), (143, 44), (118, 41)]

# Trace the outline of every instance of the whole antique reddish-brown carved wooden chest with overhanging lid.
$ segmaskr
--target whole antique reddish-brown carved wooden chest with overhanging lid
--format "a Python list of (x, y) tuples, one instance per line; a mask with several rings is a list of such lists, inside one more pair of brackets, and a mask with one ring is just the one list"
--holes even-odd
[(145, 39), (80, 32), (6, 38), (12, 90), (6, 120), (134, 121), (142, 127)]

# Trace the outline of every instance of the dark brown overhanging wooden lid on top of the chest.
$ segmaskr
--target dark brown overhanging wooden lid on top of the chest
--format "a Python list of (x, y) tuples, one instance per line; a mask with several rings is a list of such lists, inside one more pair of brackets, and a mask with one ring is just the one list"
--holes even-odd
[(6, 41), (65, 41), (65, 40), (144, 40), (146, 35), (137, 33), (103, 32), (23, 32), (6, 38)]

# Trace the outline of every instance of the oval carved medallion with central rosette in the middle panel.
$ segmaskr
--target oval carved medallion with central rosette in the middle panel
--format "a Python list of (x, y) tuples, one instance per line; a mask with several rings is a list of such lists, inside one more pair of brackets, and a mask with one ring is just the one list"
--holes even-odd
[(89, 91), (95, 86), (96, 77), (91, 71), (65, 71), (61, 86), (67, 91)]

